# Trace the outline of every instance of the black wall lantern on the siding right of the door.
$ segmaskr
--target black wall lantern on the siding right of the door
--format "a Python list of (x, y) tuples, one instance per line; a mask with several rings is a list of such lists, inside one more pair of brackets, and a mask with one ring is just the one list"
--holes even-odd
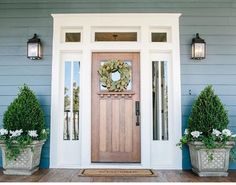
[(196, 37), (192, 39), (192, 59), (202, 60), (206, 58), (206, 43), (196, 34)]

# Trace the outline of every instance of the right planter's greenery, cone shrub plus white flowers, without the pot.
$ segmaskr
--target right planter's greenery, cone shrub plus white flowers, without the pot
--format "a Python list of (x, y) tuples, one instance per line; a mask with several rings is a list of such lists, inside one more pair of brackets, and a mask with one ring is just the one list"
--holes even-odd
[(236, 138), (236, 134), (227, 129), (228, 123), (223, 103), (215, 95), (212, 85), (208, 85), (193, 103), (188, 127), (177, 145), (182, 148), (189, 142), (200, 141), (208, 149), (224, 147)]

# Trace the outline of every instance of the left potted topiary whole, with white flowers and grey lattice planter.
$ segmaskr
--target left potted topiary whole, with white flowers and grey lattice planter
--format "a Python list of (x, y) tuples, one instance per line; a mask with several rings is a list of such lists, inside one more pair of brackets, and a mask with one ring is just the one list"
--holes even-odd
[(4, 174), (31, 175), (38, 170), (47, 138), (43, 111), (34, 93), (24, 85), (10, 104), (0, 129)]

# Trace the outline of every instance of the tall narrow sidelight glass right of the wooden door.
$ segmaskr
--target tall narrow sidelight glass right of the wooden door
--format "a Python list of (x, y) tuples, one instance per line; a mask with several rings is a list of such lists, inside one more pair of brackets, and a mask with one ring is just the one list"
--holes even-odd
[(167, 62), (152, 63), (153, 140), (168, 140), (168, 71)]

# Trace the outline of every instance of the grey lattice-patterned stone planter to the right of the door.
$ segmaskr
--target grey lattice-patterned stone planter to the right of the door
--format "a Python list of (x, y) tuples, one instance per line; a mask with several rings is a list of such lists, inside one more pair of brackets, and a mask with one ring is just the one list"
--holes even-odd
[(234, 144), (227, 142), (224, 148), (207, 149), (202, 142), (188, 143), (193, 172), (199, 176), (228, 176), (229, 153)]

